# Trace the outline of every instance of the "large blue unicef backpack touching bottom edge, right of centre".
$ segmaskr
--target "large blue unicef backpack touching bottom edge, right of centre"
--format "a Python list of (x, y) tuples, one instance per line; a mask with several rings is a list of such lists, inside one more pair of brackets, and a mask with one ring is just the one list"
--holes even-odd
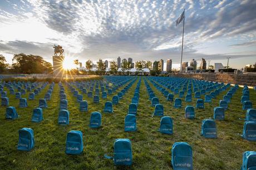
[(176, 142), (171, 148), (171, 165), (173, 169), (193, 169), (193, 152), (186, 142)]

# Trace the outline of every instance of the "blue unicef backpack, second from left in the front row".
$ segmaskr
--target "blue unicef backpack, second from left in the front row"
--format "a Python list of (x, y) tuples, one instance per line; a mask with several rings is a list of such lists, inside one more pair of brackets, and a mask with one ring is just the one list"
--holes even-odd
[(83, 134), (81, 131), (67, 133), (66, 154), (81, 154), (83, 152)]

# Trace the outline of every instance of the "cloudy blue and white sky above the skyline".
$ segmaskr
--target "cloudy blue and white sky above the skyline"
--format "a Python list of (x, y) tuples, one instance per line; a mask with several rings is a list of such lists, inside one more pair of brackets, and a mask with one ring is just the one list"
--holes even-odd
[(256, 62), (256, 1), (63, 0), (0, 1), (0, 54), (15, 53), (52, 61), (53, 45), (65, 57), (134, 61), (173, 59), (179, 66), (185, 11), (183, 61), (203, 57), (242, 68)]

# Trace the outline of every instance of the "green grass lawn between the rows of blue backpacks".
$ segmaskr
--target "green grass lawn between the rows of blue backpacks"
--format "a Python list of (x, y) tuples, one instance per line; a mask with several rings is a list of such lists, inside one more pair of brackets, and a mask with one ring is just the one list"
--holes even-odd
[[(58, 84), (53, 89), (48, 108), (43, 110), (44, 120), (41, 123), (32, 123), (32, 110), (38, 106), (38, 99), (43, 98), (47, 86), (34, 101), (28, 101), (27, 108), (18, 108), (18, 99), (14, 95), (7, 94), (9, 106), (15, 106), (21, 117), (14, 121), (5, 119), (6, 107), (0, 107), (0, 169), (171, 169), (171, 147), (175, 142), (188, 142), (193, 148), (194, 169), (239, 169), (242, 164), (244, 151), (256, 151), (256, 143), (242, 139), (245, 111), (242, 111), (240, 97), (242, 88), (234, 94), (229, 109), (225, 112), (225, 121), (216, 121), (218, 128), (217, 139), (205, 139), (200, 136), (201, 121), (213, 117), (213, 108), (218, 106), (219, 99), (227, 91), (221, 93), (212, 103), (205, 103), (205, 109), (195, 109), (194, 120), (185, 119), (185, 106), (195, 106), (196, 99), (192, 103), (186, 103), (183, 98), (183, 107), (176, 109), (173, 102), (168, 102), (163, 94), (157, 91), (149, 82), (151, 88), (164, 104), (165, 116), (171, 116), (174, 122), (174, 134), (161, 134), (158, 129), (160, 117), (151, 117), (154, 108), (150, 106), (149, 96), (146, 92), (144, 81), (141, 81), (140, 103), (137, 114), (137, 132), (124, 132), (124, 118), (127, 114), (131, 98), (136, 84), (133, 84), (125, 94), (126, 99), (121, 99), (118, 105), (114, 105), (114, 113), (102, 113), (104, 103), (111, 101), (112, 96), (101, 99), (99, 104), (93, 104), (92, 98), (88, 101), (88, 112), (79, 111), (79, 104), (65, 86), (70, 111), (70, 124), (60, 126), (57, 123), (60, 105)], [(124, 88), (119, 88), (119, 91)], [(7, 89), (6, 89), (7, 90)], [(7, 91), (8, 92), (8, 91)], [(28, 93), (24, 95), (28, 98)], [(178, 97), (178, 95), (175, 95)], [(250, 100), (256, 107), (256, 93), (250, 89)], [(91, 129), (88, 127), (90, 113), (100, 111), (102, 113), (102, 127)], [(31, 152), (17, 151), (18, 130), (30, 127), (35, 134), (35, 148)], [(82, 131), (83, 153), (78, 156), (65, 154), (66, 135), (71, 130)], [(105, 159), (105, 153), (113, 152), (113, 144), (116, 138), (129, 138), (132, 142), (133, 164), (131, 167), (115, 167), (112, 160)]]

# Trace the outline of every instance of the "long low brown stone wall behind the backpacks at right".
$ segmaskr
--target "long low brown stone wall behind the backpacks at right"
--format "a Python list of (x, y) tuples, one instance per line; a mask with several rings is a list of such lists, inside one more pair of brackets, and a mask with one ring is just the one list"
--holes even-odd
[(205, 81), (256, 86), (256, 73), (171, 73), (171, 77), (195, 78)]

